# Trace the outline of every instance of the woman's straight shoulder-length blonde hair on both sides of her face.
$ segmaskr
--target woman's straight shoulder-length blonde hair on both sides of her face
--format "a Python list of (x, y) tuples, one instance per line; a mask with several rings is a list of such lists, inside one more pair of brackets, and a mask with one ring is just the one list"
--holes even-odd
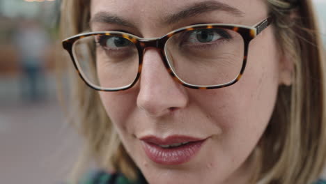
[[(297, 3), (296, 3), (297, 2)], [(89, 0), (63, 0), (61, 36), (88, 30)], [(325, 167), (326, 66), (324, 50), (311, 1), (266, 0), (274, 17), (274, 35), (280, 51), (294, 64), (293, 84), (279, 86), (277, 105), (263, 137), (253, 153), (259, 153), (256, 180), (261, 183), (312, 183)], [(67, 68), (70, 65), (60, 66)], [(72, 69), (73, 70), (73, 69)], [(135, 178), (137, 166), (127, 155), (97, 91), (73, 73), (70, 111), (79, 114), (71, 122), (86, 146), (72, 174), (77, 183), (86, 164), (97, 164)]]

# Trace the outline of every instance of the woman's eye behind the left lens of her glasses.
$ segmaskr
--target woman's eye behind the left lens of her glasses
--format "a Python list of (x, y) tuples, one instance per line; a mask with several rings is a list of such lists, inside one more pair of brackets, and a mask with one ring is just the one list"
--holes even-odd
[(130, 40), (118, 36), (100, 36), (98, 43), (106, 49), (119, 49), (132, 44)]

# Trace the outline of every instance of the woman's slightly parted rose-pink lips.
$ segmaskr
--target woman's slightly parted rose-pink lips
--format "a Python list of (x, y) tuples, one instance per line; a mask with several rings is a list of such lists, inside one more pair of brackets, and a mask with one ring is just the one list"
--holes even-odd
[(165, 139), (155, 136), (141, 137), (148, 158), (158, 164), (167, 165), (188, 162), (199, 152), (205, 140), (187, 136), (170, 136)]

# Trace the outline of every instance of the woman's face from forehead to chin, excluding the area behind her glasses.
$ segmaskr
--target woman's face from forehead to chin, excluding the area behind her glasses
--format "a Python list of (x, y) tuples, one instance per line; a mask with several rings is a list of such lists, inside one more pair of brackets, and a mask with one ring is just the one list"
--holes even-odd
[[(176, 20), (166, 22), (171, 15)], [(266, 17), (262, 0), (91, 1), (92, 31), (126, 31), (142, 38), (199, 23), (252, 26)], [(249, 155), (270, 120), (282, 81), (280, 58), (269, 26), (251, 41), (239, 82), (199, 90), (175, 82), (160, 52), (149, 47), (137, 84), (100, 96), (149, 183), (244, 183), (254, 169)]]

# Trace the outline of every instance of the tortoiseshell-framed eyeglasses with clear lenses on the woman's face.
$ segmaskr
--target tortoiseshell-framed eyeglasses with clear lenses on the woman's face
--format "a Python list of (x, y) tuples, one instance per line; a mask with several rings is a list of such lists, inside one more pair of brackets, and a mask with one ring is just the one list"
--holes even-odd
[(81, 33), (63, 40), (81, 79), (98, 91), (130, 89), (141, 75), (146, 47), (160, 51), (173, 79), (192, 89), (218, 89), (241, 78), (248, 47), (272, 17), (255, 26), (196, 24), (161, 38), (139, 38), (120, 31)]

